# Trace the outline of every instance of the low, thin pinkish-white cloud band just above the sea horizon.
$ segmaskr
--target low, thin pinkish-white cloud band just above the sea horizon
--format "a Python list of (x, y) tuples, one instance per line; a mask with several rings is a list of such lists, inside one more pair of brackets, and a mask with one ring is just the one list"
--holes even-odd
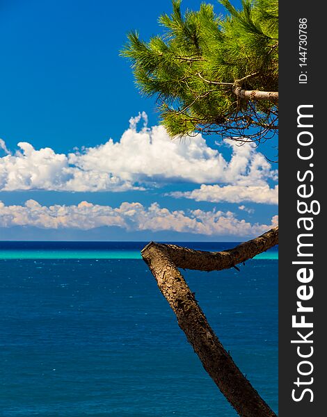
[(119, 207), (81, 202), (72, 206), (42, 206), (33, 199), (24, 206), (6, 206), (0, 202), (0, 227), (33, 226), (42, 229), (81, 229), (122, 227), (127, 231), (177, 231), (207, 236), (257, 236), (276, 226), (251, 224), (227, 211), (170, 211), (153, 203), (148, 207), (138, 202), (123, 202)]

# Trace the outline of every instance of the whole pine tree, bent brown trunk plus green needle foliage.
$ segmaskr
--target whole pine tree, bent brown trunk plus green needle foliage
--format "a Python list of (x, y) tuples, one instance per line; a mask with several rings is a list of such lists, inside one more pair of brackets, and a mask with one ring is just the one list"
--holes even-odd
[[(163, 35), (144, 42), (129, 33), (122, 55), (131, 60), (136, 84), (156, 96), (171, 136), (223, 133), (241, 142), (266, 140), (278, 129), (278, 2), (229, 0), (224, 17), (210, 4), (198, 12), (162, 15)], [(278, 243), (278, 227), (233, 250), (194, 251), (151, 242), (144, 261), (173, 309), (202, 365), (241, 417), (276, 414), (241, 373), (207, 322), (180, 270), (236, 268)]]

